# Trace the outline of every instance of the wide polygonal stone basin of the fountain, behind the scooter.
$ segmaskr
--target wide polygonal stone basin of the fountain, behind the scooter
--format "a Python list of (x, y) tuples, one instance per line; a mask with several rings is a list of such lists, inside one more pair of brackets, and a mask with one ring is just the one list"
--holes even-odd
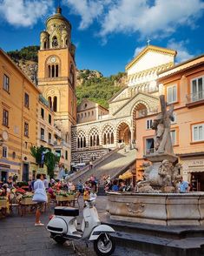
[(204, 225), (204, 192), (108, 192), (110, 219), (162, 226)]

